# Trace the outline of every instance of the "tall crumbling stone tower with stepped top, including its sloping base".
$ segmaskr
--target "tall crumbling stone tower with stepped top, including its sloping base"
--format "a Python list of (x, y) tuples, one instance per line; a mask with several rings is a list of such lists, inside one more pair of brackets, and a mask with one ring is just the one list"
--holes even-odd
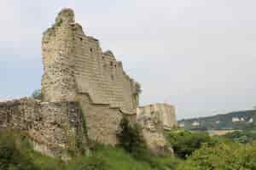
[(111, 51), (84, 34), (73, 10), (64, 8), (42, 41), (44, 101), (78, 101), (90, 139), (116, 144), (123, 116), (136, 121), (136, 83)]

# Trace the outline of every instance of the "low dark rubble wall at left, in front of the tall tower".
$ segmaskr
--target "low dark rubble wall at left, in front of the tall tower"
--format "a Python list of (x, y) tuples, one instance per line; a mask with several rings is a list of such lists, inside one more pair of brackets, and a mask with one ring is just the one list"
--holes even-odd
[(0, 128), (28, 133), (35, 150), (48, 156), (67, 156), (86, 145), (82, 112), (76, 102), (16, 99), (0, 103)]

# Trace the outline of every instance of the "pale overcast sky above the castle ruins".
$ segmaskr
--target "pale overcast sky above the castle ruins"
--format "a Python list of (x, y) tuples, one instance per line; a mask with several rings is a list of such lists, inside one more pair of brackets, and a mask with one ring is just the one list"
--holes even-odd
[(87, 35), (177, 117), (256, 105), (255, 0), (1, 0), (0, 100), (40, 88), (42, 32), (73, 8)]

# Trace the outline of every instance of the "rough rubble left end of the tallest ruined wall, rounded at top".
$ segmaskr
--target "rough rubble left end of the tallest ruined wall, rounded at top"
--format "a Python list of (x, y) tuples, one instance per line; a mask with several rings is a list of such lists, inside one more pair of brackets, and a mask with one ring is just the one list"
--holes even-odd
[(73, 24), (73, 11), (64, 9), (56, 18), (55, 25), (44, 32), (42, 94), (45, 101), (75, 99)]

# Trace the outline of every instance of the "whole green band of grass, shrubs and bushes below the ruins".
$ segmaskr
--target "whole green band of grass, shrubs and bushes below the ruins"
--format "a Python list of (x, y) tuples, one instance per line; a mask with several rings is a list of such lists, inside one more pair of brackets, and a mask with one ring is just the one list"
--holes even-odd
[[(240, 131), (238, 138), (253, 133)], [(127, 138), (127, 136), (129, 138)], [(155, 156), (139, 135), (139, 127), (121, 123), (118, 147), (92, 144), (89, 156), (63, 162), (32, 150), (24, 133), (0, 132), (1, 170), (253, 170), (256, 142), (237, 140), (236, 133), (209, 137), (207, 133), (173, 130), (166, 132), (174, 156)], [(234, 137), (234, 138), (233, 138)]]

